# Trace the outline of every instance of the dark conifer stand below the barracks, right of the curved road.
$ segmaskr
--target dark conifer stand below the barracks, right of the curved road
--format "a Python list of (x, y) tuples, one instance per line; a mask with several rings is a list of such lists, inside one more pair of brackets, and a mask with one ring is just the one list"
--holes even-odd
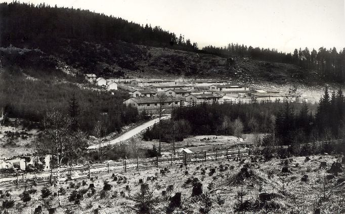
[[(294, 145), (345, 137), (345, 99), (341, 89), (330, 95), (326, 88), (319, 104), (286, 101), (199, 104), (176, 108), (172, 118), (162, 123), (163, 141), (172, 141), (174, 136), (176, 141), (181, 141), (188, 135), (241, 137), (242, 133), (267, 133), (262, 141), (264, 145)], [(158, 125), (143, 136), (144, 140), (158, 138)]]

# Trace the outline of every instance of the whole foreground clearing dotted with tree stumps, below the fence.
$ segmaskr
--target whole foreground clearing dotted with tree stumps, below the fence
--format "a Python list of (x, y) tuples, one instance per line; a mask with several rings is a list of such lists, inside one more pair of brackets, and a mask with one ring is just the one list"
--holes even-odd
[(63, 182), (60, 207), (54, 186), (3, 191), (1, 213), (345, 213), (341, 164), (250, 156), (110, 173)]

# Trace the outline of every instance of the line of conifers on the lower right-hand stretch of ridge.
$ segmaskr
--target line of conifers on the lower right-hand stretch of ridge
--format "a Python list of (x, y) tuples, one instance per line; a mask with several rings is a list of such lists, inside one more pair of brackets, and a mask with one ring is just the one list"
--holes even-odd
[(212, 53), (228, 57), (251, 57), (257, 60), (295, 64), (309, 70), (317, 70), (325, 81), (337, 83), (345, 82), (345, 48), (339, 52), (336, 48), (320, 47), (310, 51), (295, 49), (293, 54), (278, 52), (276, 49), (253, 48), (239, 44), (229, 44), (227, 47), (206, 46), (202, 48), (205, 53)]

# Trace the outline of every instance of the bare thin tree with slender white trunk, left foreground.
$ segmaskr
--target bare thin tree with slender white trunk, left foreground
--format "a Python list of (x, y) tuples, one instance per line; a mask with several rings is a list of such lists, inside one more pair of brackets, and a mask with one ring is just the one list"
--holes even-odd
[(60, 111), (53, 110), (48, 112), (43, 121), (45, 130), (44, 136), (37, 141), (37, 150), (43, 154), (50, 154), (57, 160), (57, 195), (58, 203), (60, 200), (60, 167), (62, 160), (67, 157), (67, 148), (70, 144), (69, 127), (71, 120)]

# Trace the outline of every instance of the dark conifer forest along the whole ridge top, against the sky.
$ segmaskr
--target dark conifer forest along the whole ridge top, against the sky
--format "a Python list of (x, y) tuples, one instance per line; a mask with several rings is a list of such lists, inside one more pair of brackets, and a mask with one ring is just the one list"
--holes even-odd
[[(207, 46), (199, 50), (197, 43), (185, 39), (181, 34), (178, 36), (159, 26), (152, 27), (148, 24), (144, 26), (118, 17), (93, 13), (89, 10), (51, 7), (45, 4), (35, 6), (17, 2), (2, 3), (0, 4), (0, 32), (1, 46), (3, 47), (12, 44), (20, 48), (38, 48), (48, 54), (57, 54), (61, 49), (60, 46), (73, 46), (74, 40), (109, 45), (124, 41), (222, 57), (251, 57), (257, 60), (291, 63), (313, 70), (310, 72), (318, 71), (318, 74), (325, 81), (338, 83), (345, 81), (344, 50), (338, 51), (335, 48), (321, 47), (318, 50), (310, 51), (308, 48), (299, 48), (291, 54), (278, 52), (276, 49), (247, 47), (243, 44), (233, 43), (226, 47)], [(80, 44), (78, 47), (80, 48)], [(76, 47), (72, 47), (72, 51), (73, 49)], [(133, 51), (136, 52), (137, 50)], [(82, 61), (81, 64), (86, 63), (83, 67), (87, 67), (97, 60), (97, 56), (93, 53), (89, 53), (89, 55), (90, 62), (78, 60), (77, 53), (73, 57), (65, 58), (66, 61), (73, 61), (69, 64), (80, 64), (79, 61)], [(93, 59), (94, 57), (96, 59)], [(126, 66), (133, 64), (131, 59), (126, 60), (123, 62)], [(113, 63), (111, 60), (109, 62)], [(130, 67), (130, 69), (137, 68)]]

